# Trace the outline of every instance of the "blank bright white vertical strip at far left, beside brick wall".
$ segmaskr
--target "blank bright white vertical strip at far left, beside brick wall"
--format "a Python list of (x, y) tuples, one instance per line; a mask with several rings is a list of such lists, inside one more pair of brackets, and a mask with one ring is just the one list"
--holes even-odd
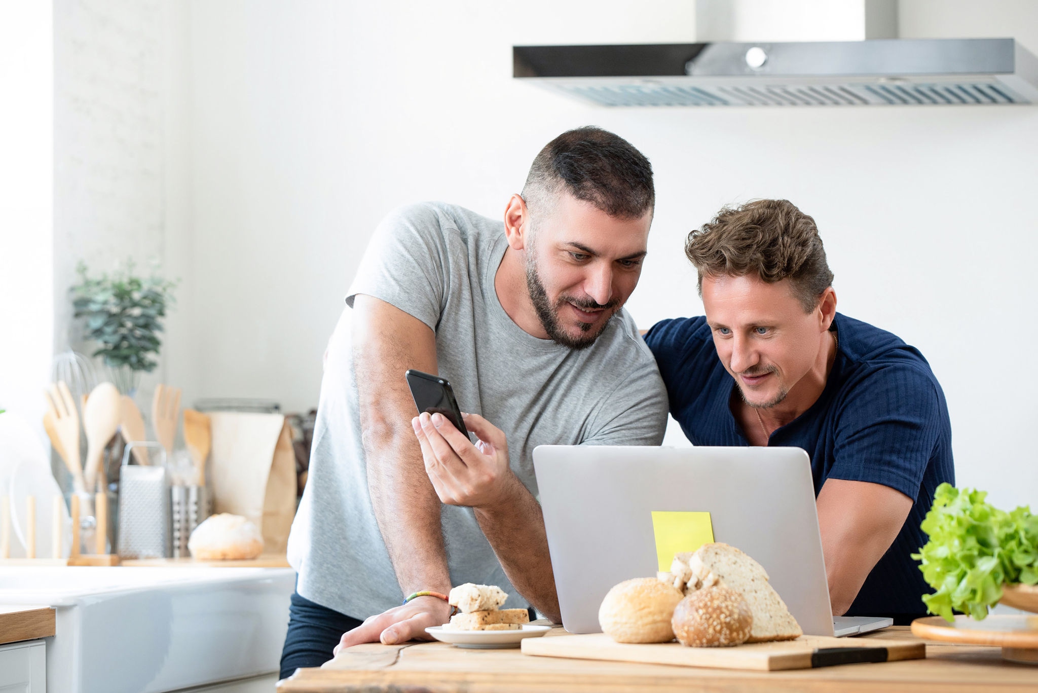
[(52, 23), (50, 3), (0, 0), (0, 408), (30, 421), (54, 330)]

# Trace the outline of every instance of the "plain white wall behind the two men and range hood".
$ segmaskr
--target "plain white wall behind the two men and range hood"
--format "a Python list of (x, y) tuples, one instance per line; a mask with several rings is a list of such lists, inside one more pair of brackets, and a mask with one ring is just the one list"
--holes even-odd
[[(1015, 35), (1038, 49), (1036, 12), (904, 0), (899, 21), (904, 36)], [(689, 41), (693, 16), (677, 0), (191, 2), (191, 395), (315, 404), (378, 220), (431, 198), (497, 217), (546, 141), (595, 124), (656, 169), (629, 303), (639, 324), (702, 310), (680, 251), (691, 228), (723, 204), (788, 197), (822, 230), (840, 310), (930, 359), (959, 483), (1038, 504), (1026, 379), (1038, 107), (604, 109), (510, 77), (513, 44)]]

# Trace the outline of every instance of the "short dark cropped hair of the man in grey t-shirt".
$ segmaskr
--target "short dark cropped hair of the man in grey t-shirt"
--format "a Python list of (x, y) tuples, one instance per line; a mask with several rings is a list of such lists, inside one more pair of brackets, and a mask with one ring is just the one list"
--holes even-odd
[(585, 126), (545, 144), (529, 167), (522, 197), (527, 207), (551, 208), (565, 189), (609, 216), (639, 219), (652, 212), (652, 164), (623, 137)]

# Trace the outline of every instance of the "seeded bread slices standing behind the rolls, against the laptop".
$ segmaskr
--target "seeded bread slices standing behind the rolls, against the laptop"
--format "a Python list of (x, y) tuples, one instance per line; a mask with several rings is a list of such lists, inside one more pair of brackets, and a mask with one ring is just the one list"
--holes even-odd
[(703, 587), (717, 584), (742, 592), (754, 614), (746, 642), (794, 640), (803, 635), (786, 603), (768, 584), (764, 566), (735, 547), (719, 542), (703, 544), (688, 560), (688, 567)]

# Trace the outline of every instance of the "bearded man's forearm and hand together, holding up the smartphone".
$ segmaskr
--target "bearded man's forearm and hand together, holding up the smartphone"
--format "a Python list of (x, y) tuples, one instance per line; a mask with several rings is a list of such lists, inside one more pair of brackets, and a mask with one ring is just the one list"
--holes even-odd
[(512, 585), (558, 623), (562, 616), (541, 505), (510, 469), (503, 431), (474, 414), (464, 418), (465, 427), (480, 439), (474, 446), (442, 415), (414, 418), (426, 473), (443, 503), (473, 509)]

